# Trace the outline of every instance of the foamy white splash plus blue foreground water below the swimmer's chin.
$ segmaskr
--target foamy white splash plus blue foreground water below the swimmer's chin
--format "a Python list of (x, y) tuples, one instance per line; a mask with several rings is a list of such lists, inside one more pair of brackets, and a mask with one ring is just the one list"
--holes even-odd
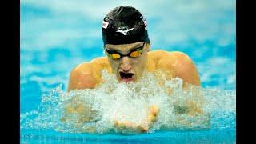
[[(166, 80), (164, 84), (173, 90), (173, 93), (169, 94), (165, 88), (158, 86), (154, 74), (144, 73), (140, 82), (130, 84), (119, 83), (114, 78), (114, 74), (108, 74), (106, 70), (102, 71), (102, 77), (106, 83), (93, 90), (71, 90), (67, 93), (62, 90), (60, 84), (50, 93), (42, 94), (42, 102), (38, 109), (21, 114), (22, 141), (25, 142), (26, 139), (34, 139), (38, 142), (42, 139), (55, 141), (57, 138), (59, 141), (67, 142), (74, 139), (79, 142), (93, 142), (100, 138), (97, 142), (118, 142), (118, 140), (129, 142), (138, 138), (142, 139), (142, 142), (151, 142), (152, 138), (155, 140), (162, 138), (162, 141), (166, 142), (235, 142), (234, 90), (203, 89), (192, 86), (191, 90), (184, 92), (182, 79), (174, 78), (170, 81)], [(190, 117), (187, 114), (176, 114), (174, 103), (178, 102), (179, 106), (183, 106), (187, 100), (198, 105), (202, 104), (202, 110), (206, 115)], [(86, 106), (90, 106), (91, 110), (94, 110), (90, 118), (95, 121), (84, 122), (77, 126), (80, 116), (71, 114), (70, 120), (62, 122), (61, 119), (65, 114), (63, 110), (70, 102), (85, 103)], [(160, 113), (157, 122), (150, 126), (151, 136), (138, 134), (137, 131), (118, 130), (114, 126), (116, 119), (142, 122), (143, 118), (146, 118), (147, 108), (152, 105), (158, 106)], [(209, 115), (210, 121), (207, 121)], [(183, 120), (186, 122), (184, 123)], [(86, 134), (86, 130), (90, 127), (95, 128), (96, 134)], [(166, 137), (166, 134), (170, 135)]]

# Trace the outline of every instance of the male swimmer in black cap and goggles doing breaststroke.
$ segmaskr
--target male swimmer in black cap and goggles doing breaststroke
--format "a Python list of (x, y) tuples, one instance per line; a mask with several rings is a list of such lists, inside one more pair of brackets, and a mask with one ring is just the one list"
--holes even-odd
[[(146, 26), (146, 18), (131, 6), (118, 6), (106, 14), (102, 22), (106, 57), (95, 58), (91, 62), (76, 66), (70, 73), (68, 91), (95, 88), (102, 82), (103, 69), (115, 74), (118, 82), (138, 82), (144, 71), (156, 73), (161, 70), (166, 74), (167, 79), (182, 78), (184, 89), (187, 84), (200, 86), (198, 70), (186, 54), (165, 50), (150, 51)], [(191, 115), (202, 113), (202, 108), (193, 102), (188, 102), (186, 108), (178, 106), (176, 108), (180, 113)], [(150, 106), (145, 122), (137, 124), (116, 120), (114, 126), (118, 129), (146, 132), (157, 120), (159, 111), (158, 106)], [(86, 106), (67, 106), (66, 113), (85, 115)], [(89, 119), (85, 116), (80, 122), (87, 122)]]

